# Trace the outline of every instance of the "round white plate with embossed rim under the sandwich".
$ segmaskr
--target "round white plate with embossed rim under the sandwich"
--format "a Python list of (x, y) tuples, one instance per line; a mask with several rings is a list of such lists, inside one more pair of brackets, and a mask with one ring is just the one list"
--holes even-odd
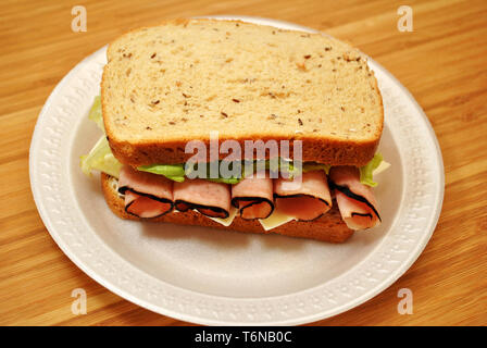
[(79, 157), (100, 136), (87, 113), (104, 64), (102, 48), (52, 91), (37, 121), (29, 171), (51, 236), (78, 268), (113, 293), (193, 323), (301, 324), (379, 294), (426, 246), (441, 210), (441, 153), (413, 97), (373, 60), (386, 120), (379, 150), (392, 164), (379, 174), (375, 190), (384, 223), (342, 245), (130, 222), (112, 214), (98, 175), (90, 179), (79, 169)]

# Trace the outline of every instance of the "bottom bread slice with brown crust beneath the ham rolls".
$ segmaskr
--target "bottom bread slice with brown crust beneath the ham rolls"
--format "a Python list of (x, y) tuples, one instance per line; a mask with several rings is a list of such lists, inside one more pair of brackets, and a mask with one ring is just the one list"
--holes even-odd
[(244, 220), (240, 216), (235, 216), (232, 225), (228, 227), (214, 222), (213, 220), (195, 211), (187, 212), (171, 212), (163, 216), (153, 219), (140, 219), (128, 214), (125, 211), (124, 199), (116, 191), (116, 178), (101, 173), (101, 188), (103, 196), (114, 214), (122, 219), (150, 221), (150, 222), (166, 222), (178, 225), (198, 225), (205, 227), (223, 228), (238, 232), (263, 233), (263, 234), (279, 234), (290, 237), (311, 238), (322, 241), (344, 243), (353, 235), (353, 231), (348, 228), (341, 220), (340, 212), (334, 207), (322, 217), (311, 222), (307, 221), (290, 221), (284, 225), (275, 227), (271, 231), (265, 231), (259, 221)]

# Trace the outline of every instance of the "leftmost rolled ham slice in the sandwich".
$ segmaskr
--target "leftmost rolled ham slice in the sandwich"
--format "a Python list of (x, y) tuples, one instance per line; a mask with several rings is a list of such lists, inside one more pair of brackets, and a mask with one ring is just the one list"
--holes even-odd
[(139, 217), (158, 217), (173, 210), (173, 183), (162, 175), (124, 165), (118, 192), (125, 195), (125, 211)]

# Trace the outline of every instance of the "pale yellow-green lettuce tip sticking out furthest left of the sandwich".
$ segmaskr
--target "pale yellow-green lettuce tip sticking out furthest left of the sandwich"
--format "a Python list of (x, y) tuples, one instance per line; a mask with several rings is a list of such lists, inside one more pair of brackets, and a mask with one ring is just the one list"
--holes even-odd
[(107, 137), (102, 135), (91, 151), (88, 154), (82, 156), (80, 166), (86, 175), (91, 175), (91, 171), (97, 170), (118, 177), (122, 163), (115, 159)]

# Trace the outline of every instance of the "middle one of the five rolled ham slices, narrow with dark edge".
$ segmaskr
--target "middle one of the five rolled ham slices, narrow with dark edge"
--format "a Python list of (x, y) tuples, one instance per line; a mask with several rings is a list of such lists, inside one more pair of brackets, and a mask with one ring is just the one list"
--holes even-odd
[(232, 185), (232, 204), (245, 220), (265, 219), (274, 211), (273, 194), (269, 174), (254, 174)]

